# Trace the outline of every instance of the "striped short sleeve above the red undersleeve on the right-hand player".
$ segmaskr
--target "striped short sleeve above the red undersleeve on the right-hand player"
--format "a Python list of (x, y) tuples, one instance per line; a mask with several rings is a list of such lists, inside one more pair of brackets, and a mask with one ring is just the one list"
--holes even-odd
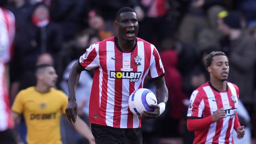
[(188, 119), (201, 118), (204, 110), (204, 100), (202, 95), (195, 90), (190, 97), (189, 107), (187, 112)]

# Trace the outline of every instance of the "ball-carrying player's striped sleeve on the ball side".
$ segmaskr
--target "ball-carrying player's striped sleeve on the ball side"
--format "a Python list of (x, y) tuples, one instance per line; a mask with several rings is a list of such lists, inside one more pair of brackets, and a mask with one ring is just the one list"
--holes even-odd
[(151, 78), (158, 78), (164, 76), (164, 67), (160, 58), (160, 55), (155, 48), (155, 46), (151, 45), (151, 50), (153, 51), (151, 60), (150, 60), (150, 68), (149, 68), (149, 76)]

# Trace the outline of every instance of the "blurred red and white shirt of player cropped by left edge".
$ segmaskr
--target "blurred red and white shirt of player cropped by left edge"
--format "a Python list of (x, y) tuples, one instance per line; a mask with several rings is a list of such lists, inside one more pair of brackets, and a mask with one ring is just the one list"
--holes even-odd
[(14, 126), (5, 83), (5, 63), (10, 59), (14, 35), (14, 15), (12, 12), (0, 7), (0, 131), (5, 131)]

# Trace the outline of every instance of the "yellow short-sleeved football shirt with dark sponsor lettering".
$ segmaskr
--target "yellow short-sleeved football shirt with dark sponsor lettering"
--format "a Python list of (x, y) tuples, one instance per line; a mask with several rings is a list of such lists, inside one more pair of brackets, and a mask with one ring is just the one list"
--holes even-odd
[(65, 93), (54, 88), (40, 93), (29, 87), (18, 93), (12, 110), (24, 115), (28, 144), (62, 144), (60, 117), (66, 114), (67, 104)]

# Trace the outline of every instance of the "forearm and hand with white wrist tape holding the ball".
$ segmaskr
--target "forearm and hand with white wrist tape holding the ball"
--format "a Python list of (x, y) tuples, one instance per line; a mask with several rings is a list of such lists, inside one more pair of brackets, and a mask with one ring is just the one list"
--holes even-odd
[(164, 76), (161, 78), (153, 79), (156, 85), (156, 97), (158, 105), (149, 105), (154, 108), (153, 112), (143, 111), (141, 117), (144, 119), (157, 118), (165, 110), (165, 104), (168, 100), (168, 89), (165, 85)]

